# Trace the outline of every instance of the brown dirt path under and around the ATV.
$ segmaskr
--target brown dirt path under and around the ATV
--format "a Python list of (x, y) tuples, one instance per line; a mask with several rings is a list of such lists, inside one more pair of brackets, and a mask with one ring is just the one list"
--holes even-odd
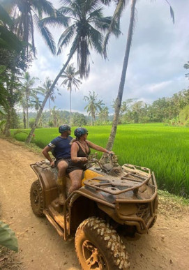
[[(0, 139), (1, 218), (15, 231), (24, 269), (78, 270), (74, 239), (63, 241), (45, 218), (36, 218), (31, 211), (29, 190), (36, 175), (29, 165), (42, 158)], [(189, 269), (188, 208), (167, 207), (160, 200), (160, 211), (165, 213), (158, 215), (149, 234), (123, 240), (130, 269)]]

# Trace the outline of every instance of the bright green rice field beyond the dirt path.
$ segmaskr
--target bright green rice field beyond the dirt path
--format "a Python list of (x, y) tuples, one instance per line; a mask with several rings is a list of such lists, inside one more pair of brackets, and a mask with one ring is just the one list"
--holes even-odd
[[(88, 140), (106, 146), (111, 126), (86, 128), (89, 130)], [(71, 135), (74, 130), (75, 127)], [(27, 137), (26, 133), (14, 135), (15, 130), (11, 130), (11, 133), (16, 140), (24, 141)], [(35, 130), (32, 141), (43, 149), (58, 135), (58, 128), (40, 128)], [(146, 123), (118, 126), (112, 150), (118, 155), (120, 165), (130, 163), (149, 167), (155, 172), (158, 188), (189, 197), (188, 149), (189, 128)]]

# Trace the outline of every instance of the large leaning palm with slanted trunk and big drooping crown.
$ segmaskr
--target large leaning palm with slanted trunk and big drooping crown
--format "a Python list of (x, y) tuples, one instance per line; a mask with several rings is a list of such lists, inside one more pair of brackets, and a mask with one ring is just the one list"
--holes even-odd
[[(56, 76), (52, 86), (50, 87), (50, 91), (45, 96), (43, 103), (38, 112), (38, 116), (36, 117), (36, 122), (31, 128), (31, 132), (29, 133), (26, 142), (31, 141), (31, 136), (38, 124), (38, 119), (40, 118), (40, 114), (43, 112), (43, 108), (45, 107), (45, 103), (47, 99), (53, 91), (56, 82), (58, 82), (61, 77), (63, 71), (68, 66), (70, 59), (72, 59), (75, 52), (77, 52), (77, 66), (78, 70), (80, 70), (80, 77), (89, 76), (90, 65), (89, 65), (89, 56), (90, 50), (93, 48), (99, 54), (103, 52), (103, 33), (101, 31), (106, 31), (109, 28), (109, 23), (111, 22), (111, 17), (103, 17), (102, 8), (99, 7), (98, 0), (65, 0), (63, 3), (66, 6), (63, 6), (59, 9), (59, 16), (57, 20), (47, 18), (42, 20), (43, 24), (54, 24), (55, 22), (58, 24), (62, 24), (62, 21), (66, 17), (66, 15), (70, 16), (70, 22), (73, 22), (62, 34), (59, 38), (59, 50), (58, 54), (61, 53), (63, 47), (70, 44), (71, 40), (73, 43), (70, 48), (70, 53), (68, 55), (68, 59), (66, 63), (61, 68), (59, 74)], [(114, 33), (118, 35), (120, 33), (119, 29), (114, 28)]]

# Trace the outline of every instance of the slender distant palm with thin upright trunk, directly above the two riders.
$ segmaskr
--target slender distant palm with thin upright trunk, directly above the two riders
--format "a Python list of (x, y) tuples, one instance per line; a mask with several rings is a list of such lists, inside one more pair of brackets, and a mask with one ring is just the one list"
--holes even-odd
[(78, 75), (80, 73), (79, 70), (75, 71), (75, 68), (73, 66), (73, 63), (71, 65), (68, 65), (66, 68), (66, 71), (63, 72), (63, 75), (61, 75), (62, 78), (64, 78), (62, 84), (67, 85), (67, 89), (68, 91), (70, 91), (70, 126), (71, 126), (71, 93), (72, 93), (72, 89), (73, 87), (75, 87), (75, 91), (76, 89), (80, 88), (80, 84), (82, 84), (82, 82), (75, 78), (76, 75)]

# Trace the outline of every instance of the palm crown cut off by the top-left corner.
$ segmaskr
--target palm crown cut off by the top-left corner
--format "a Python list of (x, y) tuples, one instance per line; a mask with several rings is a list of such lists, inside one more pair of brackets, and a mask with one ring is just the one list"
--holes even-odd
[(56, 53), (56, 47), (50, 31), (41, 22), (43, 15), (55, 16), (56, 10), (53, 8), (52, 3), (47, 0), (2, 0), (2, 6), (8, 10), (9, 14), (13, 14), (15, 24), (12, 27), (17, 37), (24, 41), (27, 45), (27, 52), (29, 47), (36, 56), (36, 47), (34, 42), (34, 24), (40, 31), (41, 36), (45, 39), (45, 43), (50, 48), (52, 54)]

